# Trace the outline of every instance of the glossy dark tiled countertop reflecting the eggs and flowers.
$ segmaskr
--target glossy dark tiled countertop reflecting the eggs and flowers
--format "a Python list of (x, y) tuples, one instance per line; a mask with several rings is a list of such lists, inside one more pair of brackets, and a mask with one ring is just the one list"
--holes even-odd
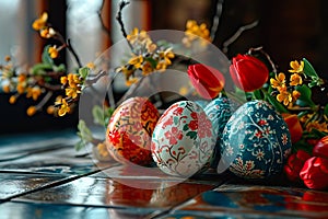
[(0, 137), (0, 219), (328, 218), (328, 192), (99, 163), (77, 140), (70, 130)]

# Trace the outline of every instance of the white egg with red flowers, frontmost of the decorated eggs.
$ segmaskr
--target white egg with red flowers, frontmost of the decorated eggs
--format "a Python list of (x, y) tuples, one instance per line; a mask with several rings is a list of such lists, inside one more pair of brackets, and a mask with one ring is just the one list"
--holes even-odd
[(210, 165), (215, 137), (204, 111), (191, 101), (171, 105), (152, 136), (152, 157), (169, 175), (188, 177)]

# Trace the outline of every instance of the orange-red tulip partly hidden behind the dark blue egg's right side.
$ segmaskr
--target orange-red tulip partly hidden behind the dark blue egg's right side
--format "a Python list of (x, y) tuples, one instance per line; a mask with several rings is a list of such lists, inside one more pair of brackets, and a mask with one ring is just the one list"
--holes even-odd
[(303, 128), (296, 114), (282, 114), (284, 122), (286, 123), (292, 143), (297, 142), (303, 136)]

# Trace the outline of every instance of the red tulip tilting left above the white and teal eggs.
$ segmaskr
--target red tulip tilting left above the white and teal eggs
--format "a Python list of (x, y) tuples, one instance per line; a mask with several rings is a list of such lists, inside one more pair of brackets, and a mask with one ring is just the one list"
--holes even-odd
[(189, 66), (188, 76), (197, 92), (208, 100), (218, 96), (225, 83), (219, 70), (201, 64)]

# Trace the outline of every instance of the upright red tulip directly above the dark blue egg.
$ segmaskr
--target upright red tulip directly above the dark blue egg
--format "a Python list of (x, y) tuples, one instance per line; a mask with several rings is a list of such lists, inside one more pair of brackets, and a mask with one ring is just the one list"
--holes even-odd
[(258, 58), (238, 54), (230, 66), (231, 77), (239, 89), (251, 92), (260, 89), (269, 79), (269, 69)]

